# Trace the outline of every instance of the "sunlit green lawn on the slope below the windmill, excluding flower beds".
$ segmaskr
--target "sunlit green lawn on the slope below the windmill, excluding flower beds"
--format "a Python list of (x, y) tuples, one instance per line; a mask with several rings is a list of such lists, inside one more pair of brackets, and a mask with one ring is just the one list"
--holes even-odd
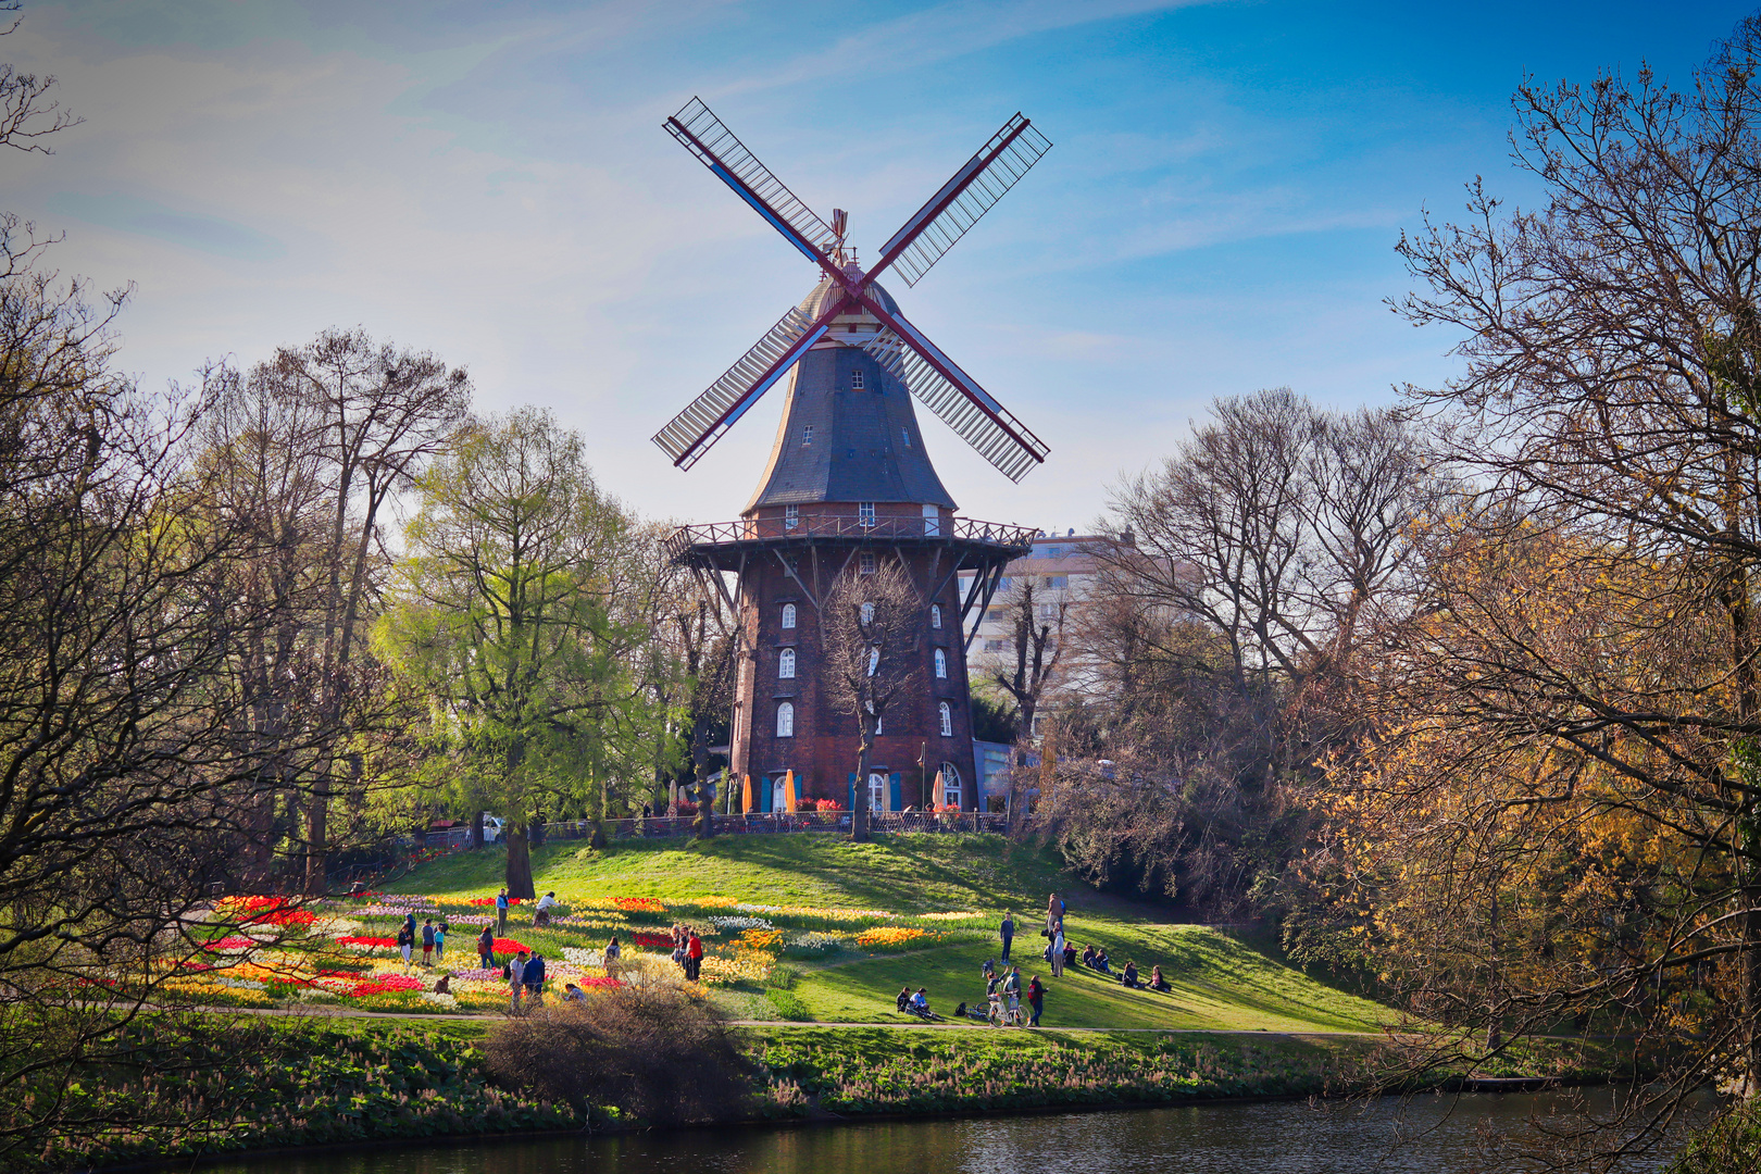
[[(502, 880), (498, 848), (460, 852), (387, 885), (431, 896), (488, 896)], [(845, 950), (796, 961), (789, 996), (726, 993), (741, 1017), (777, 1017), (777, 1007), (821, 1023), (888, 1023), (902, 986), (928, 987), (937, 1010), (983, 1002), (981, 963), (997, 958), (1004, 910), (1020, 922), (1016, 961), (1048, 986), (1046, 1026), (1238, 1031), (1368, 1031), (1386, 1009), (1323, 986), (1226, 933), (1175, 924), (1150, 905), (1122, 901), (1078, 884), (1048, 852), (1000, 836), (916, 834), (847, 843), (831, 836), (718, 836), (706, 843), (622, 841), (592, 850), (579, 841), (534, 852), (541, 892), (569, 898), (648, 896), (660, 901), (736, 898), (759, 905), (868, 908), (900, 915), (979, 910), (951, 938), (907, 952)], [(1104, 945), (1115, 966), (1136, 959), (1148, 977), (1160, 965), (1171, 994), (1132, 991), (1088, 970), (1053, 980), (1037, 936), (1046, 894), (1069, 905), (1065, 929), (1078, 945)], [(784, 924), (787, 915), (777, 917)], [(810, 922), (803, 922), (810, 924)], [(792, 998), (791, 998), (792, 996)]]

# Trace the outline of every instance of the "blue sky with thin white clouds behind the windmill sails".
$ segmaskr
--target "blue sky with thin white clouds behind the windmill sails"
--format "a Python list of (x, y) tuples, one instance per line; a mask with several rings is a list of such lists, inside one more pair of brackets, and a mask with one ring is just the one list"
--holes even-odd
[(1511, 90), (1687, 83), (1750, 11), (26, 0), (0, 60), (85, 123), (0, 160), (0, 204), (67, 232), (63, 273), (136, 283), (120, 363), (148, 385), (359, 324), (468, 366), (481, 410), (551, 407), (645, 514), (711, 521), (778, 405), (689, 473), (648, 437), (814, 273), (660, 121), (701, 95), (872, 257), (1020, 109), (1057, 146), (893, 292), (1051, 445), (1014, 486), (925, 419), (962, 512), (1087, 528), (1215, 396), (1448, 378), (1451, 340), (1384, 306), (1393, 245), (1476, 174), (1534, 201)]

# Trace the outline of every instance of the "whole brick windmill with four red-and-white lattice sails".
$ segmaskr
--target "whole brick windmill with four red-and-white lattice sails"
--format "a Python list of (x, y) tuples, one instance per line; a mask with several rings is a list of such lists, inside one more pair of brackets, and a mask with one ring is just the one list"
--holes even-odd
[[(801, 305), (653, 437), (673, 465), (690, 468), (787, 380), (770, 465), (741, 517), (682, 526), (667, 539), (671, 556), (711, 583), (738, 621), (733, 776), (755, 780), (759, 811), (785, 806), (791, 773), (803, 801), (847, 796), (852, 811), (976, 810), (967, 618), (988, 605), (1009, 560), (1032, 549), (1034, 532), (954, 516), (912, 400), (1011, 481), (1048, 449), (912, 326), (875, 278), (893, 271), (916, 285), (1051, 143), (1021, 114), (1009, 118), (863, 269), (844, 209), (822, 220), (699, 99), (664, 125), (819, 268)], [(819, 688), (817, 609), (838, 576), (870, 574), (880, 560), (905, 567), (923, 598), (926, 685), (914, 704), (886, 715), (865, 781), (849, 771), (854, 716), (836, 713)], [(907, 781), (886, 766), (917, 762), (925, 745), (940, 769), (919, 764)]]

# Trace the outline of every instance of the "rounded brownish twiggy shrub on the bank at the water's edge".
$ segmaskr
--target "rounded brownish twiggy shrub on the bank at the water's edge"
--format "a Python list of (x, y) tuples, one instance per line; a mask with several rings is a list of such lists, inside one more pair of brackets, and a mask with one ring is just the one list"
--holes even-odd
[(703, 1000), (655, 986), (613, 987), (497, 1024), (484, 1042), (490, 1072), (576, 1109), (616, 1105), (645, 1121), (740, 1116), (747, 1061)]

